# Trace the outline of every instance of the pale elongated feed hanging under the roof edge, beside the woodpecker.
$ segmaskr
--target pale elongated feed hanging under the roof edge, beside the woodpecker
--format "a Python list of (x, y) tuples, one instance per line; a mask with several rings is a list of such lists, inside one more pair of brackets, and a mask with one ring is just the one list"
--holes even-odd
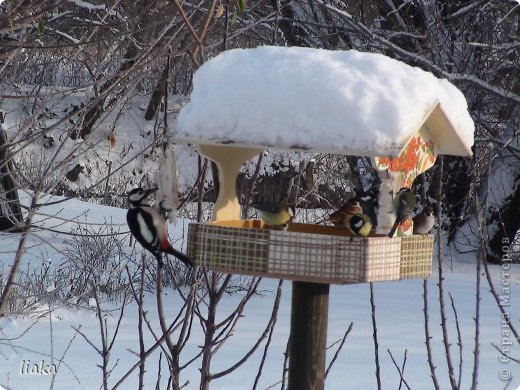
[(173, 147), (167, 142), (163, 148), (163, 155), (159, 159), (158, 181), (158, 208), (166, 215), (170, 223), (177, 222), (177, 208), (179, 207), (177, 164)]

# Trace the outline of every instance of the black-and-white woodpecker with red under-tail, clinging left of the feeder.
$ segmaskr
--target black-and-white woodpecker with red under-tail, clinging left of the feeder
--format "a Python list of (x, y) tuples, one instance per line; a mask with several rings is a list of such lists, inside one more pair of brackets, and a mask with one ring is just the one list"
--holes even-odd
[(126, 214), (126, 222), (130, 232), (143, 248), (151, 252), (159, 265), (162, 263), (162, 254), (175, 256), (188, 267), (193, 263), (184, 253), (174, 249), (168, 240), (164, 219), (153, 207), (147, 203), (148, 197), (157, 191), (157, 188), (144, 190), (135, 188), (128, 193), (130, 208)]

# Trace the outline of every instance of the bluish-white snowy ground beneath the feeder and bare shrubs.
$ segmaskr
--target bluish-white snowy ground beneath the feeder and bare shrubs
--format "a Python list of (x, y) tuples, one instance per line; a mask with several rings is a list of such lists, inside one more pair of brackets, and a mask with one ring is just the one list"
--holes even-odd
[[(86, 213), (79, 219), (89, 223), (103, 222), (109, 218), (114, 224), (124, 224), (125, 211), (102, 206), (93, 206), (76, 200), (48, 207), (44, 212), (53, 214), (61, 210), (60, 217), (72, 217)], [(88, 210), (88, 211), (87, 211)], [(56, 222), (56, 221), (54, 221)], [(51, 225), (53, 221), (45, 223)], [(122, 230), (124, 230), (124, 225)], [(180, 223), (178, 223), (180, 226)], [(60, 227), (67, 231), (70, 224)], [(179, 228), (176, 226), (177, 231)], [(173, 229), (172, 229), (173, 230)], [(174, 232), (175, 234), (175, 232)], [(0, 260), (6, 269), (12, 261), (13, 251), (17, 244), (16, 235), (0, 235), (2, 247)], [(49, 232), (39, 233), (39, 237), (30, 237), (26, 261), (36, 262), (42, 258), (57, 259), (57, 252), (63, 244), (63, 237)], [(475, 338), (475, 301), (476, 301), (476, 273), (475, 267), (469, 259), (453, 259), (453, 267), (446, 265), (445, 292), (447, 315), (449, 322), (449, 337), (451, 353), (455, 371), (459, 369), (459, 349), (457, 346), (457, 332), (453, 311), (450, 306), (448, 293), (454, 298), (459, 326), (462, 334), (462, 383), (461, 388), (469, 388), (473, 367), (473, 350)], [(493, 280), (500, 287), (501, 281), (510, 283), (509, 306), (504, 309), (515, 326), (520, 328), (520, 269), (512, 268), (507, 278), (502, 278), (501, 269), (494, 267)], [(5, 273), (5, 271), (4, 271)], [(437, 273), (429, 279), (429, 315), (432, 333), (433, 360), (437, 367), (437, 375), (441, 388), (448, 388), (447, 365), (445, 350), (442, 344), (438, 304)], [(520, 366), (515, 362), (501, 363), (500, 354), (491, 344), (510, 347), (513, 342), (512, 355), (518, 357), (519, 347), (513, 341), (513, 335), (502, 327), (501, 314), (489, 293), (489, 286), (485, 278), (481, 279), (481, 307), (480, 307), (480, 356), (479, 356), (479, 388), (481, 389), (516, 389), (520, 385)], [(212, 371), (224, 369), (238, 360), (255, 342), (256, 337), (263, 331), (269, 320), (276, 289), (276, 280), (263, 280), (262, 290), (270, 291), (263, 296), (256, 296), (244, 311), (244, 317), (234, 333), (234, 337), (217, 352), (213, 359)], [(375, 303), (377, 311), (377, 327), (379, 336), (379, 354), (381, 362), (381, 379), (384, 389), (399, 388), (399, 374), (394, 367), (387, 349), (391, 351), (399, 365), (402, 364), (404, 352), (407, 351), (404, 378), (412, 389), (433, 388), (430, 371), (426, 360), (424, 337), (422, 280), (406, 280), (398, 282), (376, 283)], [(291, 284), (283, 286), (283, 296), (280, 306), (278, 322), (259, 389), (268, 388), (281, 380), (282, 363), (289, 333)], [(165, 310), (167, 319), (177, 313), (180, 299), (173, 291), (167, 291), (165, 296)], [(239, 295), (226, 295), (219, 308), (219, 316), (224, 317), (239, 301)], [(114, 307), (115, 305), (112, 305)], [(110, 308), (111, 305), (106, 305)], [(147, 296), (145, 308), (155, 328), (158, 330), (155, 297)], [(42, 309), (46, 309), (42, 307)], [(48, 307), (47, 307), (48, 309)], [(35, 319), (28, 317), (8, 317), (0, 320), (0, 385), (12, 389), (98, 389), (101, 387), (101, 370), (98, 364), (101, 357), (96, 353), (84, 338), (76, 334), (74, 328), (79, 328), (88, 339), (99, 347), (100, 332), (98, 319), (93, 310), (72, 310), (62, 307), (51, 308), (52, 315)], [(121, 329), (115, 341), (114, 350), (110, 356), (115, 368), (109, 378), (109, 387), (124, 375), (137, 362), (132, 351), (138, 351), (137, 339), (137, 306), (130, 304), (122, 320)], [(109, 335), (114, 331), (118, 319), (118, 312), (111, 312), (108, 317)], [(339, 340), (350, 322), (353, 322), (352, 332), (349, 334), (338, 360), (335, 363), (326, 381), (327, 389), (373, 389), (376, 386), (374, 346), (372, 341), (372, 324), (369, 304), (369, 287), (366, 284), (333, 286), (330, 291), (328, 342), (332, 344)], [(146, 344), (152, 344), (152, 337), (146, 333)], [(202, 334), (197, 323), (194, 324), (193, 335), (189, 345), (181, 355), (181, 362), (188, 361), (199, 351)], [(250, 389), (254, 383), (259, 360), (260, 348), (255, 355), (238, 371), (229, 376), (212, 382), (212, 389)], [(333, 355), (328, 352), (328, 359)], [(146, 388), (155, 388), (157, 377), (158, 354), (156, 353), (147, 365)], [(61, 364), (58, 362), (62, 361)], [(56, 375), (31, 374), (27, 367), (36, 364), (57, 364)], [(117, 363), (117, 364), (116, 364)], [(164, 358), (162, 367), (164, 368)], [(191, 364), (181, 373), (182, 382), (189, 382), (188, 389), (198, 388), (200, 360)], [(511, 383), (501, 380), (499, 375), (510, 373)], [(133, 373), (120, 388), (136, 388), (137, 374)], [(1, 386), (0, 386), (1, 388)], [(274, 388), (280, 388), (280, 384)], [(404, 388), (404, 385), (403, 385)]]

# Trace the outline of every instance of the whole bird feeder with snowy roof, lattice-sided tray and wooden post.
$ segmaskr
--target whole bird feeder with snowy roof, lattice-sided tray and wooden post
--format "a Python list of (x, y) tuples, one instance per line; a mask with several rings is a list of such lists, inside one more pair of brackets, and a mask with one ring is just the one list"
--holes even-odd
[[(220, 193), (214, 221), (190, 225), (188, 254), (220, 272), (294, 281), (291, 338), (306, 340), (291, 344), (289, 388), (323, 388), (330, 284), (430, 275), (431, 236), (404, 226), (386, 237), (391, 202), (437, 155), (471, 156), (473, 130), (453, 85), (380, 54), (236, 49), (194, 74), (172, 137), (216, 163)], [(375, 234), (299, 223), (275, 231), (241, 220), (239, 170), (269, 148), (370, 156), (382, 182)]]

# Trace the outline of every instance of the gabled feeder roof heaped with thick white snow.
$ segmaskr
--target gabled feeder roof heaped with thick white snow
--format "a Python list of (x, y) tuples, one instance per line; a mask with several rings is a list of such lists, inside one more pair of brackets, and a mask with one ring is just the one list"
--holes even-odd
[[(194, 74), (172, 135), (196, 144), (397, 155), (437, 105), (462, 146), (449, 152), (470, 155), (473, 120), (447, 80), (382, 54), (234, 49)], [(445, 131), (440, 138), (448, 143)]]

